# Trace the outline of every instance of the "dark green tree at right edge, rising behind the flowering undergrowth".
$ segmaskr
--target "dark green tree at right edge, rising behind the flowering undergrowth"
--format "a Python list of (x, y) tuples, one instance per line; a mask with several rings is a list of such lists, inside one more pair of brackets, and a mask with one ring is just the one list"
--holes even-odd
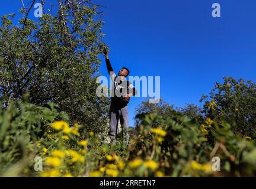
[(256, 137), (256, 84), (250, 80), (223, 77), (209, 96), (203, 95), (203, 113), (207, 118), (226, 120), (236, 134)]

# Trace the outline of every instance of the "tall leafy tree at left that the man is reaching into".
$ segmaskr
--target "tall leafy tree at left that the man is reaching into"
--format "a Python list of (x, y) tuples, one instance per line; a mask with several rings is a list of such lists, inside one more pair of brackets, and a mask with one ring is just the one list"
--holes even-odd
[(38, 22), (28, 19), (30, 9), (24, 8), (17, 25), (14, 14), (1, 17), (0, 100), (5, 108), (29, 92), (30, 103), (54, 102), (72, 122), (101, 132), (109, 100), (96, 95), (98, 55), (105, 47), (100, 6), (77, 0), (57, 3), (57, 14), (43, 14)]

